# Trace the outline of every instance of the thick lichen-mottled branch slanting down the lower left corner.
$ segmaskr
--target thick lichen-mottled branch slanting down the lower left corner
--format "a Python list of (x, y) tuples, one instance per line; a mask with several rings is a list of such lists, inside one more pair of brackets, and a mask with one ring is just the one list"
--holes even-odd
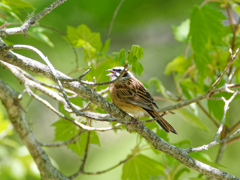
[(20, 108), (18, 93), (10, 86), (0, 80), (0, 99), (7, 110), (9, 120), (11, 121), (15, 131), (28, 148), (32, 155), (42, 179), (64, 179), (68, 178), (59, 172), (51, 163), (46, 152), (38, 143), (36, 137), (28, 126), (25, 114)]

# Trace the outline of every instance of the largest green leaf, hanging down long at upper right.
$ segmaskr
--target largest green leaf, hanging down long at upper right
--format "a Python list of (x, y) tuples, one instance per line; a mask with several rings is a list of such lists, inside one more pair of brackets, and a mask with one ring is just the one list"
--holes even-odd
[[(190, 18), (191, 44), (194, 50), (194, 62), (200, 76), (207, 74), (207, 64), (211, 63), (208, 54), (209, 43), (222, 44), (225, 35), (222, 20), (226, 17), (222, 12), (204, 5), (202, 8), (195, 6)], [(203, 78), (202, 78), (203, 79)]]

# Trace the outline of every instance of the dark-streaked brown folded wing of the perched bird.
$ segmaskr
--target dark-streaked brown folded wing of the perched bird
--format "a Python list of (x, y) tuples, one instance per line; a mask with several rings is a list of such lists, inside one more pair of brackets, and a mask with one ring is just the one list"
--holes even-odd
[(118, 81), (115, 84), (115, 93), (118, 98), (142, 108), (154, 110), (153, 105), (158, 108), (148, 90), (136, 78)]

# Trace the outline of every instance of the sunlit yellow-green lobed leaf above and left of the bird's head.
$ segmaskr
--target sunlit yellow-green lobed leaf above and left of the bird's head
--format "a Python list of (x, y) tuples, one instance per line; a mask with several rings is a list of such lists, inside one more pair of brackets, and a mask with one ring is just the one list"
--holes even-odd
[(102, 47), (100, 33), (91, 32), (85, 24), (81, 24), (77, 28), (68, 26), (67, 37), (73, 46), (83, 47), (91, 53), (96, 53)]

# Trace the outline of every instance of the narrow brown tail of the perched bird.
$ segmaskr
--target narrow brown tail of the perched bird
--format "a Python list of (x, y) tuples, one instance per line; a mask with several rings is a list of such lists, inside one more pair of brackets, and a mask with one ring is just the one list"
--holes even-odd
[(152, 118), (157, 118), (156, 122), (163, 128), (164, 131), (166, 132), (172, 132), (174, 134), (177, 134), (177, 131), (165, 120), (163, 117), (161, 117), (156, 110), (149, 110), (149, 109), (144, 109), (145, 111), (152, 116)]

